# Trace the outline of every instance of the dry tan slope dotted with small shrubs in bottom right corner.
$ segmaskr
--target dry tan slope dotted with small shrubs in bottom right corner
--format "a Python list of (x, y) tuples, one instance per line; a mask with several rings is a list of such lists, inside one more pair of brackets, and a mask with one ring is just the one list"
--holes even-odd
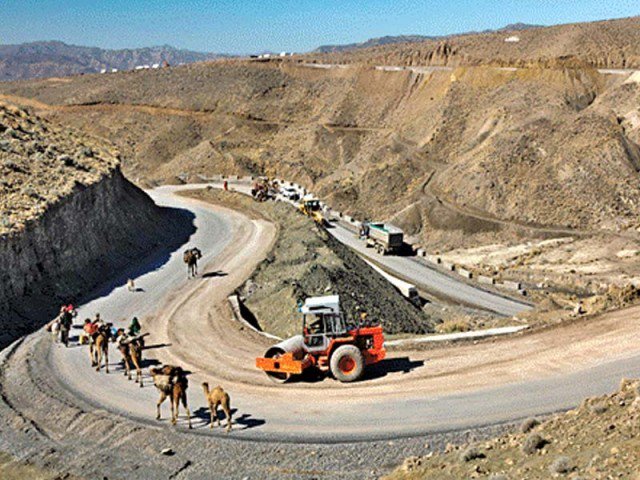
[(524, 421), (521, 433), (408, 458), (385, 478), (637, 479), (638, 420), (640, 382), (623, 381), (618, 392), (585, 400), (566, 414)]

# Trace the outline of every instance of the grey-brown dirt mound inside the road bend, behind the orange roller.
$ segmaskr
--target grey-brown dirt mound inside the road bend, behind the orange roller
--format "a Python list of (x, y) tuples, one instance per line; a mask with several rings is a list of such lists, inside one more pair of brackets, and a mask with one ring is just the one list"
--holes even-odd
[(256, 203), (244, 195), (215, 189), (189, 195), (267, 217), (278, 226), (271, 254), (239, 290), (265, 331), (281, 337), (300, 333), (298, 302), (309, 296), (338, 294), (348, 320), (357, 321), (360, 312), (367, 312), (390, 334), (433, 332), (430, 316), (289, 205)]

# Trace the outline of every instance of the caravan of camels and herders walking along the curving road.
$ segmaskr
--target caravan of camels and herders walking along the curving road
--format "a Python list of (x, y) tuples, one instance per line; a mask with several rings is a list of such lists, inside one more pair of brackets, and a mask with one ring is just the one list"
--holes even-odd
[[(198, 248), (191, 248), (184, 252), (184, 263), (187, 265), (187, 278), (194, 278), (198, 275), (198, 260), (202, 258), (202, 252)], [(127, 290), (138, 291), (132, 279), (127, 280)], [(52, 333), (54, 341), (59, 341), (65, 346), (69, 346), (69, 331), (73, 326), (73, 317), (77, 312), (72, 305), (61, 307), (60, 314), (48, 326), (47, 330)], [(135, 370), (134, 381), (140, 388), (144, 387), (143, 351), (145, 349), (145, 337), (149, 333), (142, 333), (142, 326), (137, 317), (133, 317), (128, 328), (115, 328), (112, 323), (106, 323), (97, 313), (95, 318), (85, 319), (82, 333), (78, 337), (80, 345), (89, 346), (89, 360), (91, 367), (96, 372), (101, 372), (104, 366), (105, 373), (109, 373), (109, 344), (115, 343), (122, 357), (123, 374), (128, 380), (132, 379), (132, 370)], [(59, 338), (59, 340), (58, 340)], [(187, 414), (187, 423), (191, 425), (191, 411), (187, 403), (187, 389), (189, 379), (186, 370), (179, 366), (164, 365), (152, 367), (149, 373), (153, 379), (154, 386), (160, 392), (160, 398), (156, 403), (156, 419), (161, 419), (161, 406), (165, 400), (169, 399), (171, 406), (171, 424), (178, 422), (180, 405)], [(222, 408), (226, 419), (226, 432), (231, 431), (231, 400), (229, 394), (220, 386), (209, 389), (207, 382), (202, 383), (205, 402), (209, 407), (210, 418), (209, 427), (213, 428), (216, 420), (219, 427), (222, 422), (218, 417), (218, 408)]]

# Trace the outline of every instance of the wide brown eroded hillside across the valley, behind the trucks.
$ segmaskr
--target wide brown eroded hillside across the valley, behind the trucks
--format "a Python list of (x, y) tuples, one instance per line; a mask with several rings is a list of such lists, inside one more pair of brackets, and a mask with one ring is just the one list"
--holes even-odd
[(113, 141), (140, 182), (278, 175), (431, 247), (638, 226), (624, 75), (226, 62), (0, 89)]

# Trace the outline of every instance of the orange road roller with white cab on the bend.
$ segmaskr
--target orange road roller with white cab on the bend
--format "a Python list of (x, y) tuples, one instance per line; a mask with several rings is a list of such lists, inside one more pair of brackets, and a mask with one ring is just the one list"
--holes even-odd
[(269, 378), (284, 383), (294, 375), (316, 367), (341, 382), (362, 377), (365, 366), (384, 359), (384, 333), (379, 325), (347, 325), (338, 295), (307, 298), (299, 308), (302, 335), (269, 348), (256, 359), (256, 367)]

